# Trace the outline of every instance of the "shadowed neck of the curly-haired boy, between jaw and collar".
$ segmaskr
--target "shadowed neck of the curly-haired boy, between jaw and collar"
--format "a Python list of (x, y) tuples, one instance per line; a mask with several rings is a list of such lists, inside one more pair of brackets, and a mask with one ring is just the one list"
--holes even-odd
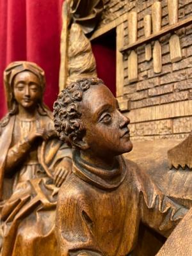
[(86, 150), (80, 150), (81, 159), (86, 161), (93, 166), (97, 166), (98, 168), (106, 169), (106, 170), (113, 170), (116, 164), (116, 157), (101, 157), (95, 156), (93, 152), (87, 152)]

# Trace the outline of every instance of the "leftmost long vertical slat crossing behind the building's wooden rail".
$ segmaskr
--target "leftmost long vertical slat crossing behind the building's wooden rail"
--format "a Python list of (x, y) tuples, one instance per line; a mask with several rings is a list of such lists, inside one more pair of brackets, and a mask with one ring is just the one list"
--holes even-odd
[[(129, 33), (129, 44), (136, 42), (138, 38), (138, 15), (136, 12), (129, 13), (128, 16), (128, 33)], [(128, 58), (128, 79), (129, 83), (138, 80), (138, 55), (134, 50)]]

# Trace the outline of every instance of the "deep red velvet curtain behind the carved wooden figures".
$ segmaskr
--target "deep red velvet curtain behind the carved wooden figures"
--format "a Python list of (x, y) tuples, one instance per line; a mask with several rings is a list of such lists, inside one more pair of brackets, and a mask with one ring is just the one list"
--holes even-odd
[[(58, 94), (62, 3), (63, 0), (0, 0), (0, 118), (6, 113), (3, 70), (17, 60), (33, 61), (45, 70), (44, 100), (52, 109)], [(93, 45), (98, 75), (114, 92), (114, 54), (106, 50), (106, 46)]]

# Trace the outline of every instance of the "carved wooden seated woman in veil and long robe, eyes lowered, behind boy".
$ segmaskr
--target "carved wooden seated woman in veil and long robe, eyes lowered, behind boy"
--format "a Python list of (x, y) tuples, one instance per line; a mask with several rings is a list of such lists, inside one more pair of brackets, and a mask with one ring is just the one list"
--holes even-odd
[(9, 112), (1, 120), (1, 256), (58, 255), (58, 189), (71, 172), (71, 150), (56, 136), (43, 103), (44, 70), (18, 61), (4, 71)]

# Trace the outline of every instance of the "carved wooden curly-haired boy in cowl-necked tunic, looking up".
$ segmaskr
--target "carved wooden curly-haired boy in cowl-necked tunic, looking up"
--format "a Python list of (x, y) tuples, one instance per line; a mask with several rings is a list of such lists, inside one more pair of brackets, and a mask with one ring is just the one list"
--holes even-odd
[(124, 159), (132, 150), (129, 119), (100, 79), (63, 90), (54, 103), (54, 124), (60, 139), (74, 147), (72, 175), (58, 196), (60, 255), (128, 255), (141, 221), (169, 236), (188, 210)]

